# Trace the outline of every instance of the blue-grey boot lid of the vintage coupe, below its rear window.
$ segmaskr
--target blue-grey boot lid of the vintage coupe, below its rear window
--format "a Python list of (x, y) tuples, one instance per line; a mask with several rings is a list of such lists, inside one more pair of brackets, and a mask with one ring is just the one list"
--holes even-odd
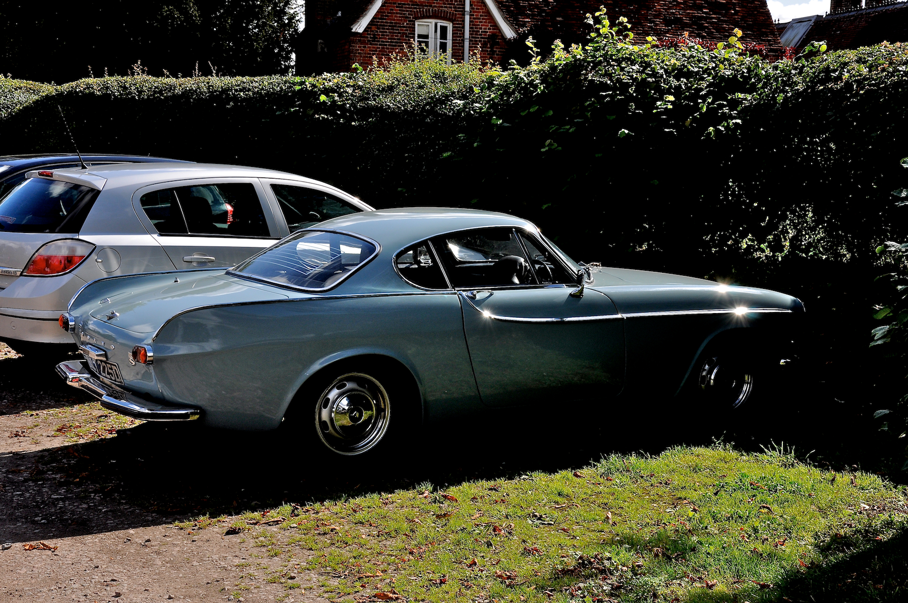
[(255, 282), (217, 272), (170, 272), (102, 281), (80, 292), (70, 311), (136, 333), (157, 331), (183, 311), (223, 303), (287, 299)]

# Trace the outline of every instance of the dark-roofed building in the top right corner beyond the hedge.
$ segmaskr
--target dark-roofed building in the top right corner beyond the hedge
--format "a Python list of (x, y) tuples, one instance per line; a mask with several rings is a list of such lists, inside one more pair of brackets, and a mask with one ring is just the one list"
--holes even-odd
[(832, 0), (828, 15), (811, 15), (778, 25), (782, 45), (798, 51), (825, 41), (830, 50), (881, 42), (908, 42), (908, 2)]

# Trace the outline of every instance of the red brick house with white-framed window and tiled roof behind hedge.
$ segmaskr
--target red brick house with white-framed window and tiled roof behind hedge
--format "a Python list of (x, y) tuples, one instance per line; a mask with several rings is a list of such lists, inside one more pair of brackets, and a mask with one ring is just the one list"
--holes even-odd
[(530, 35), (540, 49), (556, 39), (584, 42), (587, 14), (600, 5), (613, 20), (626, 16), (635, 35), (724, 41), (739, 27), (742, 41), (763, 44), (771, 58), (781, 52), (765, 0), (308, 0), (297, 72), (347, 71), (411, 51), (414, 42), (449, 61), (467, 54), (521, 61)]

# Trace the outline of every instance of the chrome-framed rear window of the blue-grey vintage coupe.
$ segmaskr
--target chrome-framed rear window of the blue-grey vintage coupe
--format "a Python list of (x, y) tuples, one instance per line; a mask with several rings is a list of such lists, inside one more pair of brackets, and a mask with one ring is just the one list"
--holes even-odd
[(378, 252), (371, 242), (331, 231), (301, 231), (230, 271), (302, 289), (337, 285)]

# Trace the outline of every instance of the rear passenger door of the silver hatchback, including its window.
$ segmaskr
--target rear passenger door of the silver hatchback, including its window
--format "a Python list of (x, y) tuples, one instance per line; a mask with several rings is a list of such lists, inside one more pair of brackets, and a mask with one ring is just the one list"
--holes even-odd
[(133, 195), (133, 207), (178, 269), (235, 266), (280, 239), (257, 180), (146, 187)]

